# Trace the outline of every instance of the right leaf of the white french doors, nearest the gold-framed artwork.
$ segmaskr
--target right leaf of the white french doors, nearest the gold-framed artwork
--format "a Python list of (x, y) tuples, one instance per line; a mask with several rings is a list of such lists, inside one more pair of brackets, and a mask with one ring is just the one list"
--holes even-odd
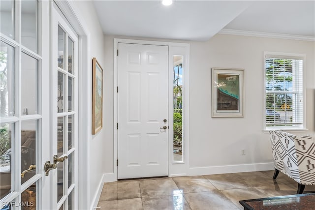
[[(52, 8), (51, 154), (54, 156), (45, 171), (52, 176), (52, 208), (74, 210), (78, 208), (78, 36), (59, 8), (55, 4)], [(54, 164), (57, 170), (49, 170)]]

